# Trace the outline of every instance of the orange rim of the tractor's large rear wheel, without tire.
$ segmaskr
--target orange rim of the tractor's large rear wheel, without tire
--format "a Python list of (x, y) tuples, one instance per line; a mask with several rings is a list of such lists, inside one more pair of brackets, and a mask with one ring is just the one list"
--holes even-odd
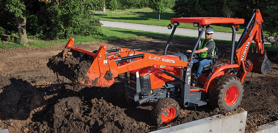
[(237, 102), (238, 100), (238, 87), (231, 86), (229, 89), (227, 89), (225, 93), (225, 103), (228, 106), (232, 106)]

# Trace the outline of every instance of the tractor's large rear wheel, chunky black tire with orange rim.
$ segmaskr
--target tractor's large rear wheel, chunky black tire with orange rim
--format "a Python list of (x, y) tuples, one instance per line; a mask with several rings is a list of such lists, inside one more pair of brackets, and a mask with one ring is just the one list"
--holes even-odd
[(233, 75), (216, 78), (208, 92), (209, 105), (222, 111), (232, 111), (240, 104), (243, 96), (242, 81)]

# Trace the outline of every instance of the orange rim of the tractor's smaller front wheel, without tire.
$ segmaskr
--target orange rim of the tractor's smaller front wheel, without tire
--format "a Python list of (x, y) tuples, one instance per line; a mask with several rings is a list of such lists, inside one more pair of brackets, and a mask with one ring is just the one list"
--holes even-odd
[(174, 107), (168, 107), (166, 108), (162, 115), (161, 115), (161, 120), (163, 123), (170, 123), (176, 116), (176, 109)]

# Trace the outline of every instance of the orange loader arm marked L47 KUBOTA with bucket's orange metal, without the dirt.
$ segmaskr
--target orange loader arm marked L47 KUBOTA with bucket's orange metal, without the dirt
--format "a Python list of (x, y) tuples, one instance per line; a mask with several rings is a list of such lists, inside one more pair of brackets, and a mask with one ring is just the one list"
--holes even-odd
[(109, 87), (114, 83), (114, 78), (118, 74), (137, 69), (153, 67), (172, 71), (174, 67), (186, 67), (188, 63), (167, 56), (158, 56), (127, 48), (120, 48), (119, 51), (113, 50), (116, 52), (107, 52), (105, 45), (101, 45), (99, 50), (94, 53), (74, 47), (73, 44), (74, 39), (71, 38), (65, 48), (83, 52), (88, 56), (94, 57), (94, 61), (86, 74), (88, 79), (77, 81), (79, 84), (90, 86)]

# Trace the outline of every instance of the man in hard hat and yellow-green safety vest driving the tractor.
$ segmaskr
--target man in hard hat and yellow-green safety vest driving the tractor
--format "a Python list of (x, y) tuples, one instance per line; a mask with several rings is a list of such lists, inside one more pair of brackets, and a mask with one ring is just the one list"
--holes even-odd
[[(213, 57), (214, 55), (212, 53), (214, 53), (214, 49), (215, 49), (215, 42), (213, 41), (213, 39), (211, 38), (211, 36), (213, 35), (214, 30), (213, 27), (207, 27), (205, 30), (205, 37), (206, 39), (204, 39), (201, 42), (201, 47), (199, 50), (196, 50), (194, 53), (199, 53), (198, 58), (193, 59), (193, 63), (198, 63), (198, 69), (197, 69), (197, 73), (194, 75), (194, 78), (192, 79), (192, 86), (195, 86), (198, 84), (198, 78), (200, 77), (202, 71), (203, 71), (203, 67), (204, 65), (210, 64), (213, 62), (213, 60), (211, 59), (211, 57)], [(187, 53), (191, 53), (191, 50), (187, 50)]]

